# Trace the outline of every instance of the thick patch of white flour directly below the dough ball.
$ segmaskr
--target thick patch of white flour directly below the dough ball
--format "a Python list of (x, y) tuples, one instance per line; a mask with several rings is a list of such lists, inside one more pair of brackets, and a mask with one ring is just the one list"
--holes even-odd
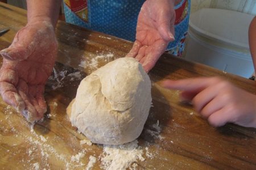
[(135, 140), (124, 145), (104, 145), (101, 168), (106, 170), (127, 169), (137, 160), (144, 161), (143, 150)]

